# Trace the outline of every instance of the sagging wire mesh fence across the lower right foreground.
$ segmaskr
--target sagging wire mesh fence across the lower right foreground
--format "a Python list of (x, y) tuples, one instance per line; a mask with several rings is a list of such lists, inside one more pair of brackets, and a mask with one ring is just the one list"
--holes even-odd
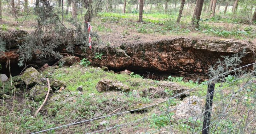
[[(191, 88), (180, 94), (177, 94), (164, 101), (145, 106), (135, 110), (129, 110), (121, 113), (97, 117), (89, 120), (70, 123), (42, 130), (36, 133), (58, 133), (59, 128), (76, 129), (83, 127), (86, 134), (93, 133), (201, 133), (205, 129), (209, 133), (255, 133), (256, 124), (256, 63), (246, 65), (229, 72), (219, 74), (213, 79)], [(228, 77), (227, 77), (228, 76)], [(225, 80), (224, 80), (225, 79)], [(216, 83), (216, 89), (200, 97), (193, 95), (194, 91), (206, 90), (205, 85)], [(183, 94), (189, 94), (189, 97), (183, 99), (180, 104), (172, 105), (173, 99)], [(204, 102), (209, 99), (209, 95), (214, 95), (213, 106), (208, 110)], [(197, 95), (199, 96), (199, 95)], [(185, 100), (188, 100), (187, 102)], [(206, 105), (205, 105), (206, 103)], [(205, 105), (205, 106), (204, 106)], [(157, 107), (158, 106), (158, 107)], [(162, 108), (161, 112), (148, 114), (147, 111), (153, 108)], [(199, 109), (198, 110), (195, 110)], [(179, 111), (184, 110), (187, 116), (177, 119)], [(140, 111), (140, 112), (139, 112)], [(141, 112), (142, 111), (142, 112)], [(138, 113), (140, 117), (132, 120), (127, 114)], [(202, 128), (203, 117), (209, 112), (211, 117), (208, 125)], [(177, 114), (177, 115), (176, 115)], [(105, 121), (105, 125), (94, 128), (95, 121)], [(136, 128), (136, 129), (135, 129)], [(181, 130), (187, 129), (187, 130)]]

